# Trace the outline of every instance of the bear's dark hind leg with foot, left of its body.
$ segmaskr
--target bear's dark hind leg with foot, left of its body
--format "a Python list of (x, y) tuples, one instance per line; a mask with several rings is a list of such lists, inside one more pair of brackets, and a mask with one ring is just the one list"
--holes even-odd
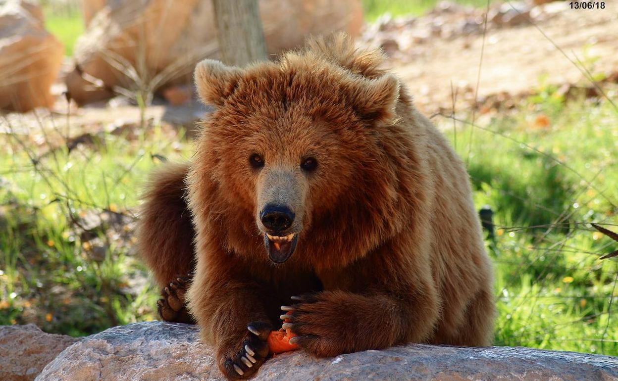
[(162, 288), (159, 315), (174, 322), (192, 322), (184, 306), (195, 261), (195, 233), (185, 201), (187, 170), (188, 164), (166, 164), (153, 174), (138, 227), (140, 254)]

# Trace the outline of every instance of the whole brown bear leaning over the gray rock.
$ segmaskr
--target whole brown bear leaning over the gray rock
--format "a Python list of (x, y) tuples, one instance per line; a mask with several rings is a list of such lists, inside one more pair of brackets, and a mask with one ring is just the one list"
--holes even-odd
[(316, 356), (490, 343), (491, 263), (464, 164), (383, 63), (337, 35), (195, 69), (216, 109), (192, 160), (153, 177), (140, 245), (161, 316), (195, 320), (229, 379), (265, 361), (281, 310)]

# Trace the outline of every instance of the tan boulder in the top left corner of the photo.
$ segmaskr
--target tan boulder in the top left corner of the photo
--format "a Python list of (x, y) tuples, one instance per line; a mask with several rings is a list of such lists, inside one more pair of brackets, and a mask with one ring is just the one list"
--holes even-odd
[(0, 109), (30, 111), (51, 107), (50, 93), (64, 48), (43, 26), (32, 2), (0, 2)]

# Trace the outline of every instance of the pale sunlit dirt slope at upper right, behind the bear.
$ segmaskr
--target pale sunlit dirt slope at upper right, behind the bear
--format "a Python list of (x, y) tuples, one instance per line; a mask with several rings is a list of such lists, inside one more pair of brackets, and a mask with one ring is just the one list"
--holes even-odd
[[(410, 87), (417, 106), (429, 114), (452, 109), (451, 85), (458, 94), (457, 108), (469, 107), (477, 78), (482, 100), (499, 93), (527, 93), (541, 82), (590, 85), (570, 60), (580, 61), (580, 67), (595, 77), (609, 77), (618, 70), (616, 1), (606, 1), (605, 9), (570, 9), (568, 1), (539, 7), (510, 4), (490, 10), (485, 38), (485, 10), (446, 6), (413, 22), (387, 20), (377, 27), (383, 31), (366, 40), (378, 40), (390, 53), (393, 69)], [(518, 5), (520, 12), (515, 11)], [(501, 12), (519, 19), (504, 22)], [(391, 48), (393, 40), (398, 49)]]

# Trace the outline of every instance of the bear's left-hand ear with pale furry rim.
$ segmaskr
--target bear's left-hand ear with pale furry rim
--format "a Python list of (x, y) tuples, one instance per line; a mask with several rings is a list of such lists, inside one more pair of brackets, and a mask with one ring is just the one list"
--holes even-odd
[(234, 93), (242, 75), (235, 66), (226, 66), (214, 59), (205, 59), (195, 66), (193, 80), (204, 104), (221, 106)]

